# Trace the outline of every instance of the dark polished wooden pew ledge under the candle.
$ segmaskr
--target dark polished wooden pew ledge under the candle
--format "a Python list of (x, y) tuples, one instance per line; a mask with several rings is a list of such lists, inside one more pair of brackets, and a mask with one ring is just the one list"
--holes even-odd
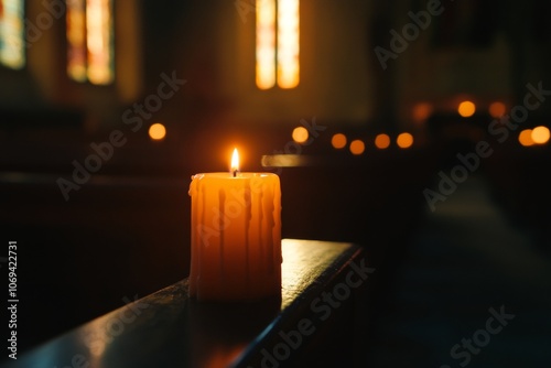
[[(347, 349), (352, 343), (334, 329), (352, 338), (354, 294), (361, 288), (346, 286), (345, 278), (355, 272), (354, 266), (364, 264), (363, 248), (284, 239), (282, 251), (281, 299), (198, 303), (187, 297), (187, 280), (182, 280), (46, 342), (6, 367), (262, 367), (273, 366), (270, 359), (294, 366), (327, 354), (349, 359), (352, 351), (342, 346)], [(338, 305), (322, 302), (323, 293), (336, 291), (335, 285), (341, 292), (348, 288), (350, 296), (345, 293)], [(307, 324), (307, 334), (296, 333), (301, 323)]]

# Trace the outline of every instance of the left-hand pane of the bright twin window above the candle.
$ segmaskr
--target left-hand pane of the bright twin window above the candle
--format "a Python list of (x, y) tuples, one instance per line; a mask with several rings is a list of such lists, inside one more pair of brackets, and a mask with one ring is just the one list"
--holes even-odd
[(276, 85), (276, 0), (257, 0), (257, 86)]

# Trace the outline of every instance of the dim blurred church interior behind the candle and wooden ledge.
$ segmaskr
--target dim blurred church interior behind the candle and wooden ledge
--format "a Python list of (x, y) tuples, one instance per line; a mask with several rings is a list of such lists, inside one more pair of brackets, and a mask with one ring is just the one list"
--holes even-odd
[(279, 176), (283, 239), (358, 245), (375, 269), (353, 351), (327, 366), (548, 366), (550, 13), (0, 0), (0, 264), (4, 295), (17, 274), (18, 357), (187, 278), (191, 178), (227, 172), (237, 148), (242, 172)]

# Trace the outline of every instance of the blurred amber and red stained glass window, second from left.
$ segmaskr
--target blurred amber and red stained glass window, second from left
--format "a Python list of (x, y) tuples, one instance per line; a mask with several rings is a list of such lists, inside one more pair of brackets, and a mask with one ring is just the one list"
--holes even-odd
[(67, 1), (67, 73), (77, 82), (115, 78), (111, 0)]

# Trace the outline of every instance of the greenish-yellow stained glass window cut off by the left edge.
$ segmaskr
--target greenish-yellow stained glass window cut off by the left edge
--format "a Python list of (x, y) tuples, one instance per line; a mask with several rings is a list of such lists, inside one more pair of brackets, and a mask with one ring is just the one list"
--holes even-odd
[(22, 68), (24, 47), (23, 0), (0, 0), (0, 64)]

